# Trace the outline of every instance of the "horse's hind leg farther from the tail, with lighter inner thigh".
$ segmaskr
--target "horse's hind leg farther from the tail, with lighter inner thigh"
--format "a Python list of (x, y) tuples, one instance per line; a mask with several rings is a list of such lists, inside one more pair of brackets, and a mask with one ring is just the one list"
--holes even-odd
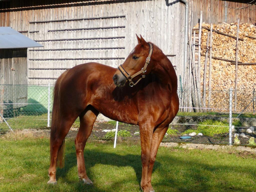
[(86, 141), (92, 132), (93, 124), (98, 114), (99, 112), (95, 110), (92, 106), (88, 106), (86, 108), (86, 110), (79, 116), (80, 127), (77, 133), (77, 137), (75, 139), (78, 177), (80, 180), (83, 180), (84, 183), (89, 185), (92, 184), (92, 181), (88, 178), (86, 174), (83, 152)]

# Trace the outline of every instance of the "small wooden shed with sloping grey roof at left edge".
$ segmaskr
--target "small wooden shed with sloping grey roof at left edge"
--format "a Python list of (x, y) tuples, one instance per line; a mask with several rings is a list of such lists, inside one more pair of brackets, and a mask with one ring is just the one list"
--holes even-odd
[[(0, 27), (0, 104), (26, 103), (28, 84), (27, 48), (42, 47), (39, 43), (10, 27)], [(15, 107), (20, 107), (19, 104)], [(6, 106), (0, 107), (1, 109)]]

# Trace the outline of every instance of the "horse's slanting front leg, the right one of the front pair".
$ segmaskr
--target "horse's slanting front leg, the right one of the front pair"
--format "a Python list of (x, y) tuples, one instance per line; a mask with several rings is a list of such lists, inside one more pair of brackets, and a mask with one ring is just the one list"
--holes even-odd
[(164, 135), (167, 130), (168, 130), (168, 126), (164, 127), (164, 128), (157, 128), (153, 133), (151, 149), (150, 149), (149, 166), (148, 166), (148, 172), (147, 172), (147, 183), (148, 183), (148, 189), (150, 192), (155, 191), (151, 185), (151, 175), (153, 172), (153, 167), (154, 167), (154, 163), (156, 160), (156, 154), (157, 154), (158, 147), (159, 147), (161, 141), (163, 140)]

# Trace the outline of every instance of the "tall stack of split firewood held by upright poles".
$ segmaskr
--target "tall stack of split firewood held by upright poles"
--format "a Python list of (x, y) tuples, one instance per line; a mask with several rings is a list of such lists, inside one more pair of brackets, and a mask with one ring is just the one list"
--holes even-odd
[[(210, 28), (210, 24), (202, 23), (202, 26)], [(209, 30), (202, 28), (201, 31), (201, 55), (206, 55), (206, 42), (208, 38)], [(198, 25), (194, 29), (199, 28)], [(237, 36), (237, 23), (217, 23), (213, 25), (213, 29), (220, 31), (222, 33)], [(198, 42), (198, 33), (196, 31), (195, 40)], [(193, 37), (192, 33), (192, 37)], [(239, 24), (239, 40), (238, 44), (238, 62), (240, 63), (256, 63), (256, 39), (250, 38), (247, 36), (256, 38), (256, 27), (248, 23)], [(209, 46), (209, 45), (208, 45)], [(196, 48), (197, 50), (197, 48)], [(208, 49), (207, 49), (208, 50)], [(236, 60), (236, 39), (228, 37), (225, 35), (212, 32), (212, 56), (222, 59)], [(201, 56), (200, 59), (200, 84), (203, 88), (204, 82), (204, 65), (205, 65), (205, 56)], [(197, 55), (196, 55), (197, 60)], [(230, 61), (222, 61), (219, 59), (212, 59), (212, 75), (211, 75), (211, 89), (229, 89), (235, 87), (235, 68), (236, 65), (232, 65)], [(238, 80), (237, 88), (238, 89), (247, 89), (252, 92), (253, 88), (256, 88), (256, 65), (238, 65)], [(207, 70), (206, 70), (206, 89), (209, 87), (209, 54), (207, 61)], [(239, 98), (242, 100), (252, 100), (252, 95), (248, 96), (249, 98), (239, 97), (237, 103), (240, 105), (246, 105), (246, 101), (239, 101)], [(212, 95), (214, 98), (214, 95)], [(221, 96), (215, 98), (216, 102), (222, 102)], [(223, 101), (224, 102), (224, 101)], [(225, 101), (226, 102), (226, 101)], [(248, 101), (247, 101), (248, 102)], [(208, 101), (207, 101), (208, 103)], [(214, 103), (211, 103), (214, 104)]]

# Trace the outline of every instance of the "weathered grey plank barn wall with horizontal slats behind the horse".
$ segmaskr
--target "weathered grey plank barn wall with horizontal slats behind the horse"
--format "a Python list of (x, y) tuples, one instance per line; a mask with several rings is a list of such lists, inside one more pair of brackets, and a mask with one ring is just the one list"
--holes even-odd
[[(61, 3), (60, 3), (61, 2)], [(177, 76), (183, 74), (184, 54), (184, 5), (178, 1), (10, 1), (10, 27), (39, 43), (40, 49), (28, 49), (29, 84), (54, 83), (56, 78), (75, 65), (85, 62), (99, 62), (117, 67), (137, 44), (135, 34), (141, 34), (163, 50), (176, 66)], [(102, 18), (120, 16), (115, 18)], [(72, 21), (29, 23), (59, 19), (79, 19)], [(106, 29), (86, 29), (95, 27), (115, 27)], [(80, 29), (79, 29), (80, 28)], [(48, 31), (58, 29), (79, 29)], [(102, 37), (108, 37), (101, 39)], [(74, 38), (94, 38), (81, 40), (57, 40)], [(95, 48), (106, 49), (95, 49)], [(111, 48), (110, 48), (111, 47)], [(119, 47), (119, 48), (117, 48)], [(120, 48), (121, 47), (121, 48)], [(90, 48), (84, 50), (52, 50)], [(38, 48), (33, 48), (38, 49)], [(49, 50), (50, 49), (50, 50)], [(64, 60), (76, 59), (76, 60)], [(81, 59), (87, 58), (87, 59)], [(108, 59), (90, 59), (108, 58)], [(63, 60), (55, 60), (63, 59)], [(48, 68), (48, 69), (47, 69)], [(50, 69), (49, 69), (50, 68)], [(61, 68), (59, 70), (52, 68)], [(38, 79), (37, 79), (38, 78)], [(51, 78), (51, 79), (48, 79)]]

